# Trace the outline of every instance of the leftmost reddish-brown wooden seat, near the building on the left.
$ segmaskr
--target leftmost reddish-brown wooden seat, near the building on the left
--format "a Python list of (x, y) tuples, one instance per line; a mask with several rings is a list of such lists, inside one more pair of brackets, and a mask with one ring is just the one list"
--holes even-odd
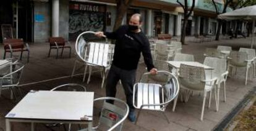
[(23, 52), (28, 52), (27, 62), (29, 60), (30, 50), (28, 44), (24, 44), (23, 39), (4, 39), (4, 59), (6, 58), (6, 52), (12, 54), (13, 52), (20, 52), (20, 60), (22, 60)]

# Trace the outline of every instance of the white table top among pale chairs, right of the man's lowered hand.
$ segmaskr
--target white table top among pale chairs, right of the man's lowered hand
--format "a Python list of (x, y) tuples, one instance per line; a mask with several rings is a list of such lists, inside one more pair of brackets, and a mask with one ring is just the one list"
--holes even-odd
[(198, 66), (198, 67), (202, 67), (202, 68), (205, 68), (205, 69), (213, 69), (212, 67), (207, 66), (207, 65), (203, 65), (202, 63), (199, 63), (199, 62), (167, 61), (167, 63), (169, 65), (173, 66), (174, 68), (180, 68), (181, 64), (184, 64), (184, 65), (190, 65), (190, 66)]

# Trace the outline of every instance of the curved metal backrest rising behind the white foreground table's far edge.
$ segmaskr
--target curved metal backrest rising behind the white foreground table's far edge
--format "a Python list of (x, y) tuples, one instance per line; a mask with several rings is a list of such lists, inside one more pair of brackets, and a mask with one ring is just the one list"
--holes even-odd
[(51, 91), (54, 91), (54, 90), (80, 91), (80, 92), (86, 92), (87, 91), (85, 86), (80, 85), (80, 84), (73, 84), (73, 83), (59, 85), (59, 86), (54, 87), (53, 89), (51, 89)]

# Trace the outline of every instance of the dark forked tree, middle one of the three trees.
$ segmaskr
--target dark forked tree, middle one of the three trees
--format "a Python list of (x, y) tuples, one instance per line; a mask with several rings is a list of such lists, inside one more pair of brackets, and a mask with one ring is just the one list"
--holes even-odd
[(192, 14), (194, 7), (195, 7), (195, 0), (192, 1), (192, 6), (189, 9), (189, 5), (187, 4), (188, 0), (184, 0), (184, 4), (177, 0), (177, 3), (181, 5), (182, 9), (184, 10), (184, 20), (182, 25), (181, 31), (181, 43), (185, 44), (185, 36), (186, 36), (186, 28), (187, 28), (187, 20), (189, 19), (190, 15)]

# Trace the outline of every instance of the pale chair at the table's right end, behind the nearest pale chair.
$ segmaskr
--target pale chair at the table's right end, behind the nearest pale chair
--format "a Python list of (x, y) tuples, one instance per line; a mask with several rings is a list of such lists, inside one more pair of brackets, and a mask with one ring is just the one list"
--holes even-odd
[(205, 71), (205, 76), (207, 79), (211, 79), (211, 77), (217, 77), (217, 85), (218, 85), (218, 91), (217, 91), (217, 108), (216, 111), (218, 111), (220, 106), (220, 88), (221, 83), (223, 83), (223, 97), (224, 101), (226, 101), (226, 80), (228, 77), (228, 71), (226, 71), (226, 59), (224, 58), (216, 58), (216, 57), (205, 57), (205, 60), (203, 62), (204, 65), (210, 66), (214, 69), (211, 69), (211, 71)]

